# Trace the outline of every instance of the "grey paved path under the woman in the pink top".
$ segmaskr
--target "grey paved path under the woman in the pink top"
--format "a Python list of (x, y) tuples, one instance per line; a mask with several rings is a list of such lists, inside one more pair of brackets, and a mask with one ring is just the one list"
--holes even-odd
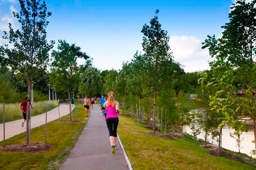
[(119, 143), (117, 145), (116, 153), (111, 153), (105, 117), (99, 105), (95, 105), (79, 141), (60, 170), (129, 170), (124, 153)]

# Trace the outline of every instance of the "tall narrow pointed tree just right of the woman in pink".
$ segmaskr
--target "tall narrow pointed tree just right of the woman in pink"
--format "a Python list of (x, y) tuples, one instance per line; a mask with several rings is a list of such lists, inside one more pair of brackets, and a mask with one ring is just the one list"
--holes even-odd
[[(163, 87), (166, 82), (165, 75), (170, 75), (166, 70), (169, 68), (169, 63), (172, 62), (172, 53), (170, 52), (169, 36), (167, 31), (161, 29), (161, 24), (158, 21), (159, 10), (155, 12), (155, 17), (151, 19), (150, 26), (144, 25), (142, 28), (143, 37), (143, 51), (147, 57), (147, 79), (154, 93), (154, 125), (155, 133), (155, 113), (156, 113), (156, 95), (157, 91)], [(168, 70), (169, 71), (169, 70)], [(170, 83), (170, 82), (169, 82)]]

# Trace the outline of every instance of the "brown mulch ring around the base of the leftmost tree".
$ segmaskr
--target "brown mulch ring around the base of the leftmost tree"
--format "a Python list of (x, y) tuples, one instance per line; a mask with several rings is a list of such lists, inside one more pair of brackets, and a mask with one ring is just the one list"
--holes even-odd
[(19, 144), (12, 144), (12, 145), (7, 145), (5, 148), (0, 148), (0, 152), (41, 152), (45, 150), (50, 150), (52, 148), (51, 145), (49, 144), (44, 144), (44, 143), (31, 143), (30, 144), (30, 150), (28, 151), (26, 143), (19, 143)]

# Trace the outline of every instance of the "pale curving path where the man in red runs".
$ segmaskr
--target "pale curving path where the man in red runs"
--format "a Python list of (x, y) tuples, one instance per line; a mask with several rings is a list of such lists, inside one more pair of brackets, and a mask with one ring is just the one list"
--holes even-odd
[[(72, 107), (72, 110), (73, 110), (73, 108), (74, 107)], [(59, 106), (59, 109), (60, 109), (61, 116), (65, 116), (65, 115), (69, 114), (70, 109), (69, 109), (69, 105), (67, 105), (67, 104), (61, 104)], [(51, 122), (58, 118), (59, 118), (58, 107), (47, 112), (47, 122)], [(19, 120), (5, 123), (5, 130), (6, 130), (5, 138), (6, 139), (26, 131), (26, 123), (25, 123), (24, 127), (21, 127), (22, 120), (23, 119), (19, 119)], [(31, 129), (41, 126), (41, 125), (44, 125), (44, 124), (45, 124), (45, 113), (31, 117)], [(3, 123), (0, 124), (0, 141), (2, 141), (2, 140), (3, 140)]]

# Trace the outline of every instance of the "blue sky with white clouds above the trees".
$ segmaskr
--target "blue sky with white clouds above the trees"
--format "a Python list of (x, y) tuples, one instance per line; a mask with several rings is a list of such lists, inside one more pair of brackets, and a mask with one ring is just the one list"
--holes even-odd
[[(168, 32), (174, 60), (184, 71), (209, 69), (207, 49), (201, 43), (207, 35), (221, 36), (233, 0), (46, 0), (47, 39), (66, 40), (81, 47), (99, 70), (119, 70), (136, 51), (143, 52), (144, 24), (149, 25), (159, 9), (159, 22)], [(12, 11), (20, 11), (18, 0), (0, 0), (0, 35), (8, 23), (20, 28)], [(0, 45), (4, 40), (0, 38)], [(84, 60), (79, 59), (79, 64)]]

